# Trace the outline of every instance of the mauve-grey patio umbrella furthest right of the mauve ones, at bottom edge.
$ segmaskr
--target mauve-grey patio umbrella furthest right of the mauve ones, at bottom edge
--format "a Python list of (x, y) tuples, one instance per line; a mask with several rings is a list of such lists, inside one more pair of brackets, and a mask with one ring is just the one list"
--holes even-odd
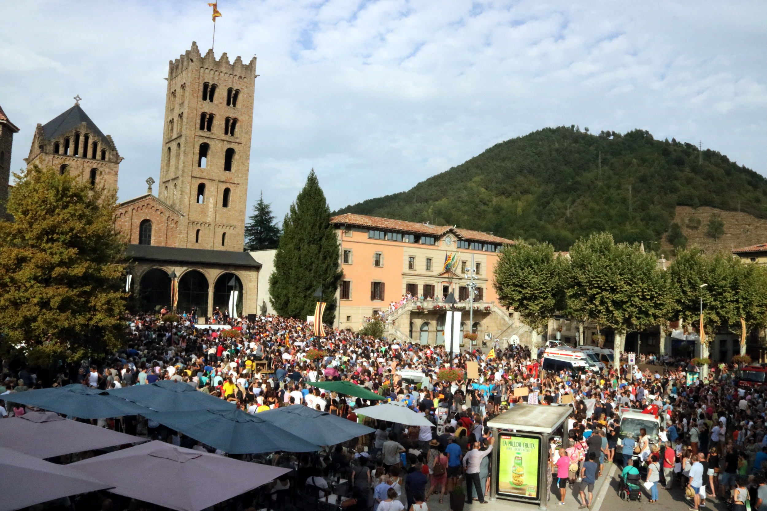
[(179, 511), (200, 511), (290, 470), (232, 460), (160, 441), (67, 465), (114, 486), (112, 493)]

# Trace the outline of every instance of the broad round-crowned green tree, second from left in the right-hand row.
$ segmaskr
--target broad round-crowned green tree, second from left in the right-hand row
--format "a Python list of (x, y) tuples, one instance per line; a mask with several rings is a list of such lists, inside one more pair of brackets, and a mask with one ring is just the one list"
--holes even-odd
[(616, 244), (611, 234), (591, 234), (570, 250), (568, 310), (579, 321), (614, 329), (614, 358), (620, 360), (627, 332), (667, 318), (669, 281), (652, 253), (637, 244)]

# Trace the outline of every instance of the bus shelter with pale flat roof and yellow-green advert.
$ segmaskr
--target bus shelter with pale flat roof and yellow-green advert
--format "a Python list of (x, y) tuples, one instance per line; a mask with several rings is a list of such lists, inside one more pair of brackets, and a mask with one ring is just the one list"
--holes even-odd
[(560, 446), (566, 441), (572, 411), (570, 405), (515, 405), (487, 423), (495, 437), (490, 500), (516, 500), (547, 509), (548, 443), (551, 437)]

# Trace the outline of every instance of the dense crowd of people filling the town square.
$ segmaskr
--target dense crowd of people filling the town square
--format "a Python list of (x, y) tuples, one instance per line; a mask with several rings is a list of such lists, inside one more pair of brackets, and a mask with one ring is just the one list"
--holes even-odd
[[(487, 423), (518, 402), (527, 402), (514, 393), (515, 388), (527, 387), (530, 394), (538, 392), (539, 405), (572, 403), (567, 437), (559, 444), (552, 439), (550, 449), (561, 504), (571, 486), (580, 506), (591, 506), (594, 483), (605, 467), (620, 462), (621, 477), (634, 470), (641, 473), (651, 502), (662, 498), (659, 486), (677, 485), (690, 488), (691, 509), (717, 497), (741, 509), (748, 496), (752, 507), (767, 511), (764, 394), (737, 388), (727, 365), (688, 386), (686, 372), (695, 368), (682, 359), (657, 359), (665, 365), (644, 371), (631, 371), (621, 363), (602, 374), (572, 375), (541, 371), (538, 353), (531, 354), (525, 346), (499, 346), (490, 357), (482, 349), (466, 347), (451, 356), (444, 346), (363, 338), (350, 331), (333, 330), (320, 339), (311, 324), (298, 319), (257, 316), (248, 321), (221, 315), (219, 323), (229, 323), (232, 329), (212, 329), (194, 323), (193, 316), (182, 316), (177, 323), (154, 314), (133, 316), (127, 320), (130, 336), (124, 349), (102, 361), (62, 369), (50, 382), (30, 369), (12, 371), (3, 365), (0, 399), (12, 404), (14, 392), (43, 385), (79, 383), (108, 390), (173, 379), (251, 414), (305, 405), (364, 421), (375, 433), (321, 456), (271, 457), (270, 462), (292, 467), (295, 474), (272, 484), (275, 501), (290, 493), (291, 485), (322, 496), (334, 480), (346, 479), (352, 498), (344, 506), (351, 509), (425, 511), (432, 499), (442, 501), (456, 486), (465, 485), (467, 504), (486, 502), (495, 470)], [(479, 363), (479, 378), (439, 381), (440, 369), (450, 365), (466, 370), (467, 362)], [(405, 369), (422, 373), (423, 382), (404, 378), (399, 372)], [(402, 401), (433, 425), (407, 427), (358, 418), (355, 410), (373, 403), (312, 385), (323, 380), (348, 380)], [(621, 433), (620, 414), (626, 408), (659, 416), (663, 427), (649, 434)], [(442, 423), (440, 409), (446, 414)], [(2, 416), (23, 413), (23, 406), (0, 408)], [(112, 425), (206, 448), (152, 421), (123, 418)]]

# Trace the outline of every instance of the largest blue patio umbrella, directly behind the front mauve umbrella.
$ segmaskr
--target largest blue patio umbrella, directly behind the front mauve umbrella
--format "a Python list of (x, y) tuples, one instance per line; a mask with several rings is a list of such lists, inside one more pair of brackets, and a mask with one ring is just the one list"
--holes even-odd
[(242, 410), (197, 410), (149, 412), (146, 418), (229, 454), (319, 450), (319, 445), (311, 437), (304, 440), (258, 415), (246, 414)]

